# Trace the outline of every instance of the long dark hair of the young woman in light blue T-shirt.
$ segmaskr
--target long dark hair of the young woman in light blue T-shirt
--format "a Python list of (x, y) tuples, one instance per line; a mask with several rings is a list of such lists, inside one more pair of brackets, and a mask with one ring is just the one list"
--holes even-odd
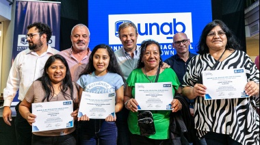
[[(122, 79), (125, 83), (125, 79), (122, 75), (122, 71), (116, 60), (116, 55), (115, 55), (114, 51), (112, 50), (112, 48), (106, 44), (98, 44), (98, 45), (96, 45), (96, 47), (94, 47), (94, 49), (92, 50), (92, 52), (90, 54), (90, 59), (88, 61), (88, 64), (87, 64), (85, 70), (83, 70), (83, 72), (81, 72), (81, 75), (87, 75), (87, 74), (94, 72), (94, 70), (96, 70), (96, 68), (94, 68), (94, 64), (93, 64), (93, 56), (94, 56), (94, 53), (96, 53), (96, 51), (98, 49), (106, 49), (107, 53), (110, 57), (109, 64), (107, 66), (107, 71), (117, 73), (118, 75), (120, 75), (122, 77)], [(79, 75), (79, 77), (81, 77), (81, 75)]]

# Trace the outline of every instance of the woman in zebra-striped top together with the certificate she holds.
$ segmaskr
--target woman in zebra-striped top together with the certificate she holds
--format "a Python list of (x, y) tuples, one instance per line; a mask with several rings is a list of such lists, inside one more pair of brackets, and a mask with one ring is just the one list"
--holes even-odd
[[(182, 92), (195, 99), (195, 128), (207, 144), (259, 144), (259, 70), (239, 49), (231, 30), (215, 20), (203, 29), (199, 55), (187, 66)], [(237, 74), (244, 79), (236, 80)], [(205, 86), (208, 76), (221, 85)], [(209, 94), (210, 90), (218, 92)]]

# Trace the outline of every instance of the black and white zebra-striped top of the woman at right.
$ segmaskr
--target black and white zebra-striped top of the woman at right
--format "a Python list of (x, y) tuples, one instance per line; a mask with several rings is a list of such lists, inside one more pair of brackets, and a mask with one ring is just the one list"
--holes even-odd
[[(183, 87), (194, 86), (202, 70), (210, 70), (216, 60), (209, 54), (196, 55), (187, 66)], [(234, 51), (216, 66), (216, 70), (244, 68), (248, 81), (259, 83), (259, 70), (243, 51)], [(258, 106), (257, 106), (258, 105)], [(205, 100), (195, 99), (195, 128), (202, 137), (207, 131), (230, 135), (242, 144), (259, 144), (259, 96)]]

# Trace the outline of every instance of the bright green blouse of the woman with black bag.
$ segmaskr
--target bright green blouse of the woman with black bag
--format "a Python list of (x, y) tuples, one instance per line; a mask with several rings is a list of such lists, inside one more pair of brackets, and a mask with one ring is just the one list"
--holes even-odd
[[(149, 79), (153, 79), (154, 76), (148, 76)], [(175, 90), (179, 88), (179, 79), (172, 70), (172, 68), (166, 68), (159, 74), (157, 82), (172, 82), (172, 93), (174, 96)], [(127, 85), (132, 88), (132, 96), (135, 98), (135, 83), (150, 83), (146, 75), (142, 72), (141, 68), (136, 68), (131, 72), (127, 79)], [(169, 138), (169, 125), (170, 125), (170, 110), (158, 110), (151, 111), (153, 113), (153, 120), (155, 122), (155, 135), (149, 135), (148, 138), (155, 140), (166, 140)], [(156, 112), (156, 113), (155, 113)], [(128, 127), (131, 133), (140, 135), (140, 129), (138, 127), (138, 112), (129, 112)]]

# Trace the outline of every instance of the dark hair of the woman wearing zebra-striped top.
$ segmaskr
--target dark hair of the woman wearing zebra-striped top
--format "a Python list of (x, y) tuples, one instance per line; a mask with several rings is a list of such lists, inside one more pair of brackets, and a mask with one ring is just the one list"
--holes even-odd
[(211, 29), (216, 26), (220, 26), (221, 29), (226, 33), (227, 43), (225, 49), (242, 49), (231, 29), (229, 29), (229, 27), (227, 27), (224, 22), (220, 20), (214, 20), (211, 23), (208, 23), (203, 29), (203, 32), (200, 36), (200, 41), (198, 42), (197, 53), (199, 53), (200, 55), (203, 55), (204, 53), (209, 53), (209, 47), (207, 47), (206, 43), (207, 34), (209, 34), (209, 31), (211, 31)]

